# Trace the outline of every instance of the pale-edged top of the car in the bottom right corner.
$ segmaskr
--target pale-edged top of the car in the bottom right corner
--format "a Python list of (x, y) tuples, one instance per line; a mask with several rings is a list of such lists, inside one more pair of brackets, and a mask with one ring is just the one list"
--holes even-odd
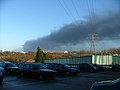
[(95, 82), (90, 90), (120, 90), (120, 78), (116, 80)]

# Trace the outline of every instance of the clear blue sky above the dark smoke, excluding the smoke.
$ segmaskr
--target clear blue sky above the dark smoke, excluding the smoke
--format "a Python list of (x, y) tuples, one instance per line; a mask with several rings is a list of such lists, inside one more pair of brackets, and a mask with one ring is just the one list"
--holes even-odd
[(65, 24), (84, 20), (90, 10), (100, 14), (119, 7), (114, 0), (0, 0), (0, 3), (3, 51), (22, 50), (27, 40), (42, 38)]

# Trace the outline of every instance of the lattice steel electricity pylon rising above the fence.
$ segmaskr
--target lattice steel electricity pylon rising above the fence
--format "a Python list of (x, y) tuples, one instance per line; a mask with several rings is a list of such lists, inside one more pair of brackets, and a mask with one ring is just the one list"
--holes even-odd
[(90, 40), (90, 52), (92, 54), (96, 53), (96, 45), (95, 45), (95, 39), (97, 34), (88, 34), (88, 39)]

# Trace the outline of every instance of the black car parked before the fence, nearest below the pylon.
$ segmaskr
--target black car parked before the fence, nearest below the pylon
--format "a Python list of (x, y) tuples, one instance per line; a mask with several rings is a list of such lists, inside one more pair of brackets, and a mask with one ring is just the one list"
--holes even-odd
[(78, 68), (82, 72), (98, 72), (99, 71), (98, 67), (95, 67), (89, 63), (80, 63)]

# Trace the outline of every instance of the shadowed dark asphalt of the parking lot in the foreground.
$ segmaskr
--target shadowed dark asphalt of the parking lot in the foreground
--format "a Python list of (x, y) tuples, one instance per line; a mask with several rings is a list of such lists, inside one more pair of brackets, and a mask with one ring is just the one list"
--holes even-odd
[(0, 90), (90, 90), (92, 83), (119, 78), (120, 72), (79, 73), (77, 76), (58, 76), (55, 80), (38, 80), (20, 76), (5, 76)]

